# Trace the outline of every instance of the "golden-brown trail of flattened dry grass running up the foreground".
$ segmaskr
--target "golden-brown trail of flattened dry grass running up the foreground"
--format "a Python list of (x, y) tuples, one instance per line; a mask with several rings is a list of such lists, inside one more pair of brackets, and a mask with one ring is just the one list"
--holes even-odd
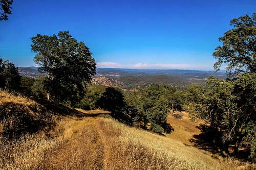
[(46, 154), (40, 169), (104, 169), (106, 136), (98, 118), (71, 120), (63, 141)]

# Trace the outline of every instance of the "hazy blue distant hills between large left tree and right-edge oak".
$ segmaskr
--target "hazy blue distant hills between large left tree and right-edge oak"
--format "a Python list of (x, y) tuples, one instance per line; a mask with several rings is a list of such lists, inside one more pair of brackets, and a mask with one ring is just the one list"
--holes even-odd
[(152, 83), (164, 83), (183, 89), (189, 84), (202, 84), (209, 76), (225, 79), (226, 72), (186, 69), (97, 68), (96, 76), (105, 76), (121, 81), (126, 88), (147, 86)]

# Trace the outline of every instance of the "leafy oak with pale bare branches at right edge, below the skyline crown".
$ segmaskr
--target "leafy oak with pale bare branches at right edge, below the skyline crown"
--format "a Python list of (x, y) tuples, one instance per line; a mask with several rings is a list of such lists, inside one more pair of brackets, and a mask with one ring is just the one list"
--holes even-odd
[[(238, 154), (242, 142), (255, 140), (256, 75), (242, 74), (231, 81), (216, 78), (208, 80), (208, 93), (204, 119), (215, 130), (220, 130), (224, 144), (234, 144)], [(251, 142), (249, 142), (251, 146)], [(228, 152), (228, 151), (227, 151)]]

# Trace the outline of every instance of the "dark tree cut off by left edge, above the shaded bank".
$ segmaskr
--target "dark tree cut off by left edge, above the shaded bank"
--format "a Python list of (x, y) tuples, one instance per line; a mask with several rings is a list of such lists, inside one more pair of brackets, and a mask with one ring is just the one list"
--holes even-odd
[(8, 60), (0, 58), (0, 88), (17, 91), (20, 89), (18, 68)]

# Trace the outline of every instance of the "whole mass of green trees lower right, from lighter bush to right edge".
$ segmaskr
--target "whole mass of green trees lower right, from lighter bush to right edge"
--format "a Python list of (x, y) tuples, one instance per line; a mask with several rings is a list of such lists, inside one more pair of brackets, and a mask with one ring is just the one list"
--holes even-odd
[(239, 147), (246, 145), (251, 148), (250, 157), (255, 156), (255, 73), (244, 73), (226, 81), (210, 77), (206, 90), (190, 87), (187, 91), (187, 100), (194, 108), (189, 113), (204, 119), (213, 132), (220, 133), (216, 139), (220, 144), (234, 145), (236, 155)]

